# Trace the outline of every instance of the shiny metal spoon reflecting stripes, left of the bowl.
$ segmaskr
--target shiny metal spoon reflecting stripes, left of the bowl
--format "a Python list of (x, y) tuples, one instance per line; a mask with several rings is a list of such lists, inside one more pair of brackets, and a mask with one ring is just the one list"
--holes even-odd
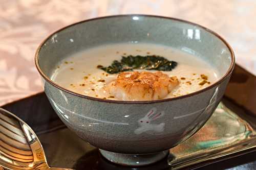
[(16, 115), (0, 108), (0, 170), (67, 169), (49, 167), (33, 130)]

